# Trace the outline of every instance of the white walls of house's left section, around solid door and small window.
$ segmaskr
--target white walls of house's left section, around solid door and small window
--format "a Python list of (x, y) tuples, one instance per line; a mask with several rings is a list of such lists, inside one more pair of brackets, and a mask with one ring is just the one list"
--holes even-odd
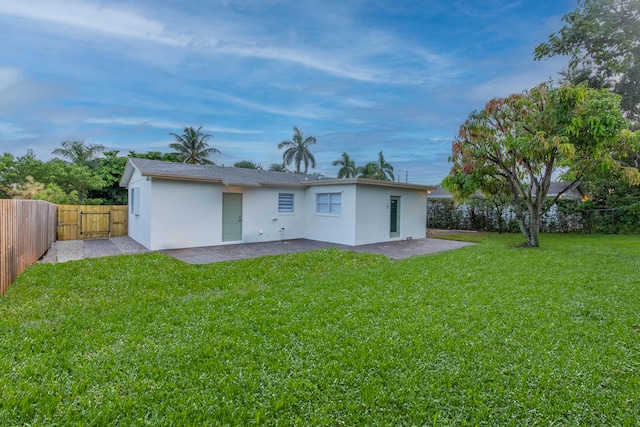
[[(129, 236), (151, 250), (239, 243), (222, 241), (223, 193), (242, 194), (241, 242), (305, 235), (304, 189), (225, 187), (157, 178), (147, 181), (137, 171), (131, 183), (130, 188), (140, 187), (140, 215), (130, 215)], [(278, 213), (279, 193), (294, 195), (293, 213)]]

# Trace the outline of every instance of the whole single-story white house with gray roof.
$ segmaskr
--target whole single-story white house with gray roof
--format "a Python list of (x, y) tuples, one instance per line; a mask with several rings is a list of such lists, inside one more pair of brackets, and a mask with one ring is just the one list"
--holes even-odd
[(362, 245), (426, 235), (434, 187), (130, 158), (129, 236), (148, 249), (305, 238)]

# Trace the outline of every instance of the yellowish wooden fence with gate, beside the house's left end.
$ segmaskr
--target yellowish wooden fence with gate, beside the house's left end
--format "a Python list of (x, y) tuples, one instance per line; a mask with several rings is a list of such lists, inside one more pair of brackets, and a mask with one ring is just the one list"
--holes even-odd
[(127, 206), (58, 205), (58, 240), (126, 236), (128, 221)]

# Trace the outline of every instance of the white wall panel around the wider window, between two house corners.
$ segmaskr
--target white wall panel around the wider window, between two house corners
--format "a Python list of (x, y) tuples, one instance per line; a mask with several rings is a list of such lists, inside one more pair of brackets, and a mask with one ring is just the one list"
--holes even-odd
[[(341, 193), (342, 212), (340, 215), (316, 212), (316, 194)], [(356, 186), (355, 184), (312, 186), (306, 197), (306, 239), (354, 246), (356, 227)]]

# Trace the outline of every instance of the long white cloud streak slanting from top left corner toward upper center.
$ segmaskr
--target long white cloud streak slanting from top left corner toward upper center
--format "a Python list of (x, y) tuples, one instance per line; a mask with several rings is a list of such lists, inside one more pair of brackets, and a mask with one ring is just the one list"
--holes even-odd
[[(73, 11), (71, 13), (71, 11)], [(209, 55), (233, 55), (254, 59), (293, 63), (336, 77), (370, 83), (418, 83), (412, 73), (394, 73), (378, 64), (368, 63), (372, 56), (387, 55), (397, 59), (411, 58), (424, 62), (425, 67), (442, 68), (443, 57), (422, 48), (408, 48), (405, 42), (378, 31), (360, 35), (345, 33), (346, 46), (283, 46), (263, 41), (252, 33), (251, 25), (225, 24), (215, 36), (208, 31), (175, 31), (175, 23), (151, 19), (125, 6), (104, 5), (81, 0), (22, 0), (0, 3), (0, 15), (16, 16), (88, 32), (131, 40), (157, 42), (165, 45), (199, 50)], [(396, 59), (396, 60), (397, 60)], [(404, 59), (401, 59), (404, 61)], [(432, 73), (433, 74), (433, 73)]]

